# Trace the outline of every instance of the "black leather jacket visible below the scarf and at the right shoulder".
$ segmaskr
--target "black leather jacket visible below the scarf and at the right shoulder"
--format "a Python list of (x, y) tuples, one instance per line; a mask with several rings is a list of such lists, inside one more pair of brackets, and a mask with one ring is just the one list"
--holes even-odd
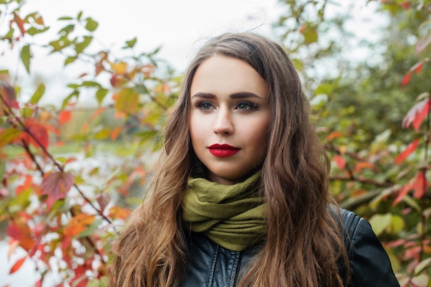
[[(399, 287), (386, 251), (370, 224), (355, 213), (341, 210), (344, 242), (350, 260), (346, 287)], [(230, 251), (201, 233), (189, 233), (189, 255), (180, 287), (234, 287), (238, 273), (255, 249)]]

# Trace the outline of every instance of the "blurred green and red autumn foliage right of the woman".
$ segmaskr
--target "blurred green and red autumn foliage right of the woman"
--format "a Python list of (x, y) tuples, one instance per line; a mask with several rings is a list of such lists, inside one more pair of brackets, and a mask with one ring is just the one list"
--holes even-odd
[(370, 220), (401, 286), (431, 286), (431, 1), (346, 2), (387, 20), (379, 41), (348, 32), (357, 10), (329, 13), (340, 1), (281, 0), (275, 30), (305, 79), (337, 201)]

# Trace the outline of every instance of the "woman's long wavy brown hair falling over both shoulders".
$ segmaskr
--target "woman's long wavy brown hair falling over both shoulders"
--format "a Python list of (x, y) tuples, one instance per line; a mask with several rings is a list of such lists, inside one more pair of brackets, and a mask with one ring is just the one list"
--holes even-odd
[(189, 136), (190, 87), (199, 65), (215, 54), (249, 63), (266, 81), (271, 109), (262, 166), (268, 235), (238, 286), (344, 286), (340, 270), (348, 270), (348, 259), (333, 212), (337, 209), (330, 207), (336, 205), (328, 191), (330, 163), (315, 134), (308, 100), (282, 47), (253, 33), (215, 37), (191, 61), (166, 123), (151, 194), (120, 234), (112, 285), (178, 284), (187, 254), (181, 202), (187, 178), (197, 165)]

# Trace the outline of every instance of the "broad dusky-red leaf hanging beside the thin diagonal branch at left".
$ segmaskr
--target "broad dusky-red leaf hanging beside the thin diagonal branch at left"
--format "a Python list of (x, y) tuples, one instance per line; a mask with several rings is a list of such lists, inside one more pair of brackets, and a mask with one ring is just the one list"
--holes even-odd
[(48, 195), (48, 200), (46, 202), (48, 209), (51, 208), (56, 200), (61, 200), (66, 197), (74, 182), (75, 178), (72, 174), (61, 171), (49, 173), (43, 177), (41, 187), (43, 189), (43, 194)]

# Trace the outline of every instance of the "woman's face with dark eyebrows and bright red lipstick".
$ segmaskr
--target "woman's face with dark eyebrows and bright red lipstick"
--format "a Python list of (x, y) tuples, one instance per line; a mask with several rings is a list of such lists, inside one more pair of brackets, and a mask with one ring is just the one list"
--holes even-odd
[(266, 156), (270, 112), (266, 83), (245, 61), (212, 56), (196, 70), (190, 90), (193, 150), (208, 179), (245, 180)]

